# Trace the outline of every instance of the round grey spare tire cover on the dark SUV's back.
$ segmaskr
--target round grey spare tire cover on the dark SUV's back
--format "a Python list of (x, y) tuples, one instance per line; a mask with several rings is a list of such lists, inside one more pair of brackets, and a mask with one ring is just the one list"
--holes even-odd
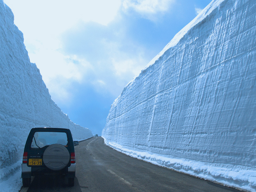
[(67, 166), (70, 155), (66, 147), (61, 144), (52, 144), (45, 149), (43, 162), (51, 170), (58, 171)]

